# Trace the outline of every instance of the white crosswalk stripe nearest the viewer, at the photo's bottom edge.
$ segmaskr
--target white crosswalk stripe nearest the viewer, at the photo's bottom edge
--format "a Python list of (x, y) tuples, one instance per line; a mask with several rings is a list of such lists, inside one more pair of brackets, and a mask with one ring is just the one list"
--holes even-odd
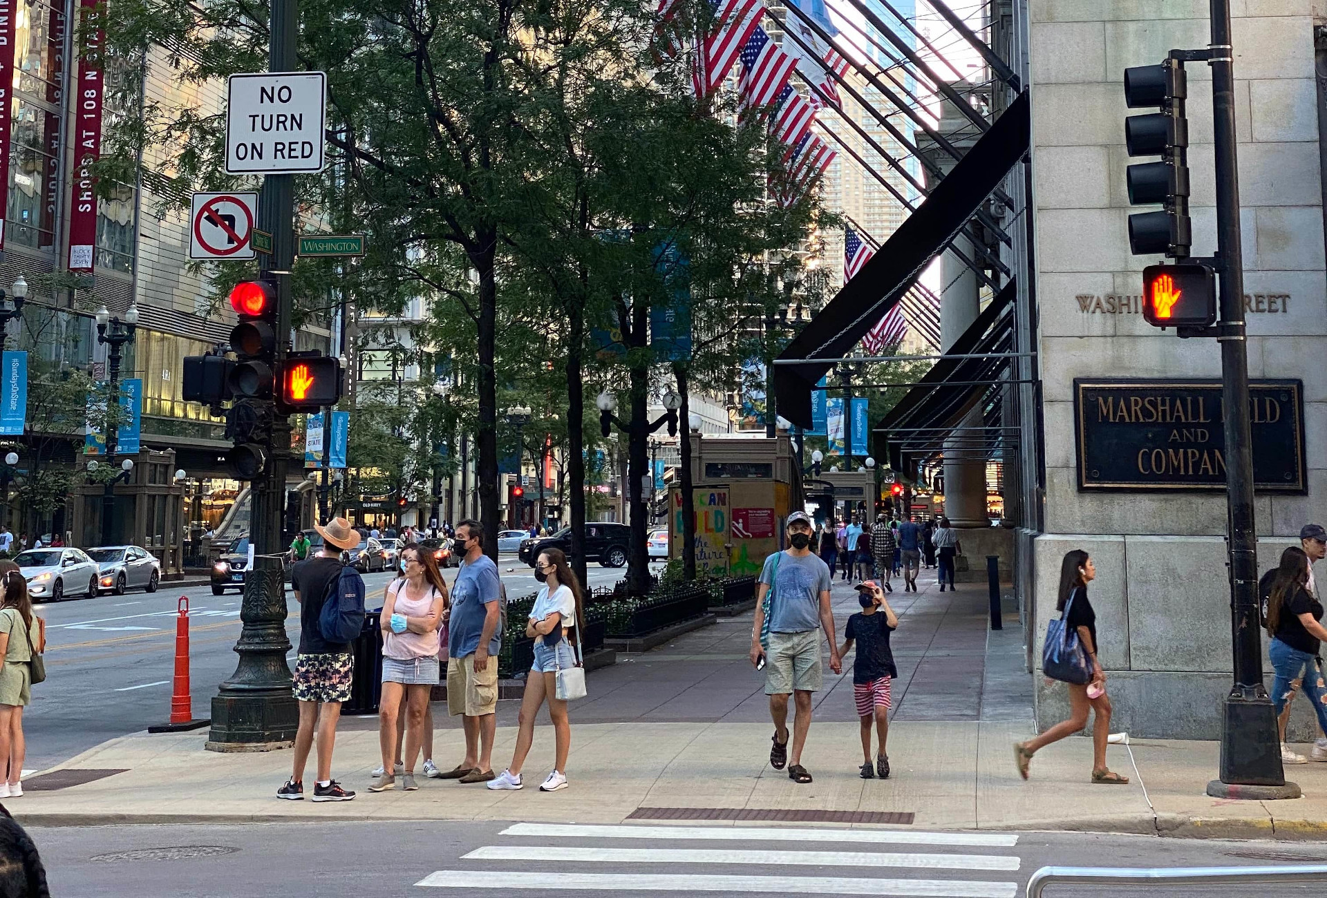
[(415, 883), (442, 889), (555, 889), (594, 891), (762, 891), (816, 895), (925, 895), (1014, 898), (1015, 882), (961, 879), (861, 879), (851, 877), (660, 875), (624, 873), (515, 873), (438, 870)]

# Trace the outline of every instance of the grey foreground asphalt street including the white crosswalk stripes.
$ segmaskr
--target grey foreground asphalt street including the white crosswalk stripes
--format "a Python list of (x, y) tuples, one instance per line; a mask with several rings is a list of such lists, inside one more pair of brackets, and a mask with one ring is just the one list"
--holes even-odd
[[(464, 788), (464, 787), (456, 787)], [(592, 785), (575, 788), (593, 788)], [(555, 796), (547, 796), (556, 801)], [(334, 809), (333, 809), (334, 812)], [(559, 832), (560, 830), (560, 832)], [(32, 830), (54, 895), (872, 894), (1015, 898), (1056, 866), (1262, 866), (1327, 861), (1327, 845), (906, 828), (565, 828), (507, 822), (249, 824)], [(579, 834), (571, 834), (579, 833)], [(904, 837), (908, 841), (867, 841)], [(963, 840), (967, 844), (963, 844)], [(1051, 886), (1047, 898), (1322, 894), (1302, 886)]]

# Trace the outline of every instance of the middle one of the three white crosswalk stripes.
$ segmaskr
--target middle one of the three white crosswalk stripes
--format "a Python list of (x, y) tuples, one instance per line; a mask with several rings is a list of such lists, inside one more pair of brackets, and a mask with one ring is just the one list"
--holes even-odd
[(1019, 858), (997, 854), (894, 854), (871, 852), (752, 852), (694, 848), (568, 848), (484, 845), (466, 861), (592, 861), (598, 864), (748, 864), (751, 866), (881, 866), (928, 870), (1018, 870)]

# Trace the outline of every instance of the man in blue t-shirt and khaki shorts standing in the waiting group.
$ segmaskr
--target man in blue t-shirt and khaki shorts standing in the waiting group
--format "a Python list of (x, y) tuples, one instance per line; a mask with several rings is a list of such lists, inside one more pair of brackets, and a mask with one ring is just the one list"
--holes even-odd
[(466, 757), (439, 779), (487, 783), (494, 779), (494, 736), (498, 731), (498, 651), (502, 633), (502, 578), (484, 554), (479, 521), (456, 524), (453, 552), (460, 569), (451, 585), (447, 615), (447, 711), (464, 715)]

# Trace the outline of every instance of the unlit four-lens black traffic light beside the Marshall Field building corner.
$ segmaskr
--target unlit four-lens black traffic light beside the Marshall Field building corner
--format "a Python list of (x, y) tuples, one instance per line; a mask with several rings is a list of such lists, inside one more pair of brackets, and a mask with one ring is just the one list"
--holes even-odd
[(1156, 106), (1161, 111), (1124, 119), (1124, 146), (1131, 157), (1161, 157), (1125, 170), (1129, 203), (1151, 206), (1157, 212), (1129, 216), (1129, 252), (1135, 256), (1162, 253), (1185, 259), (1192, 244), (1189, 224), (1189, 122), (1184, 114), (1186, 82), (1184, 62), (1168, 57), (1160, 65), (1124, 70), (1124, 101), (1129, 109)]

